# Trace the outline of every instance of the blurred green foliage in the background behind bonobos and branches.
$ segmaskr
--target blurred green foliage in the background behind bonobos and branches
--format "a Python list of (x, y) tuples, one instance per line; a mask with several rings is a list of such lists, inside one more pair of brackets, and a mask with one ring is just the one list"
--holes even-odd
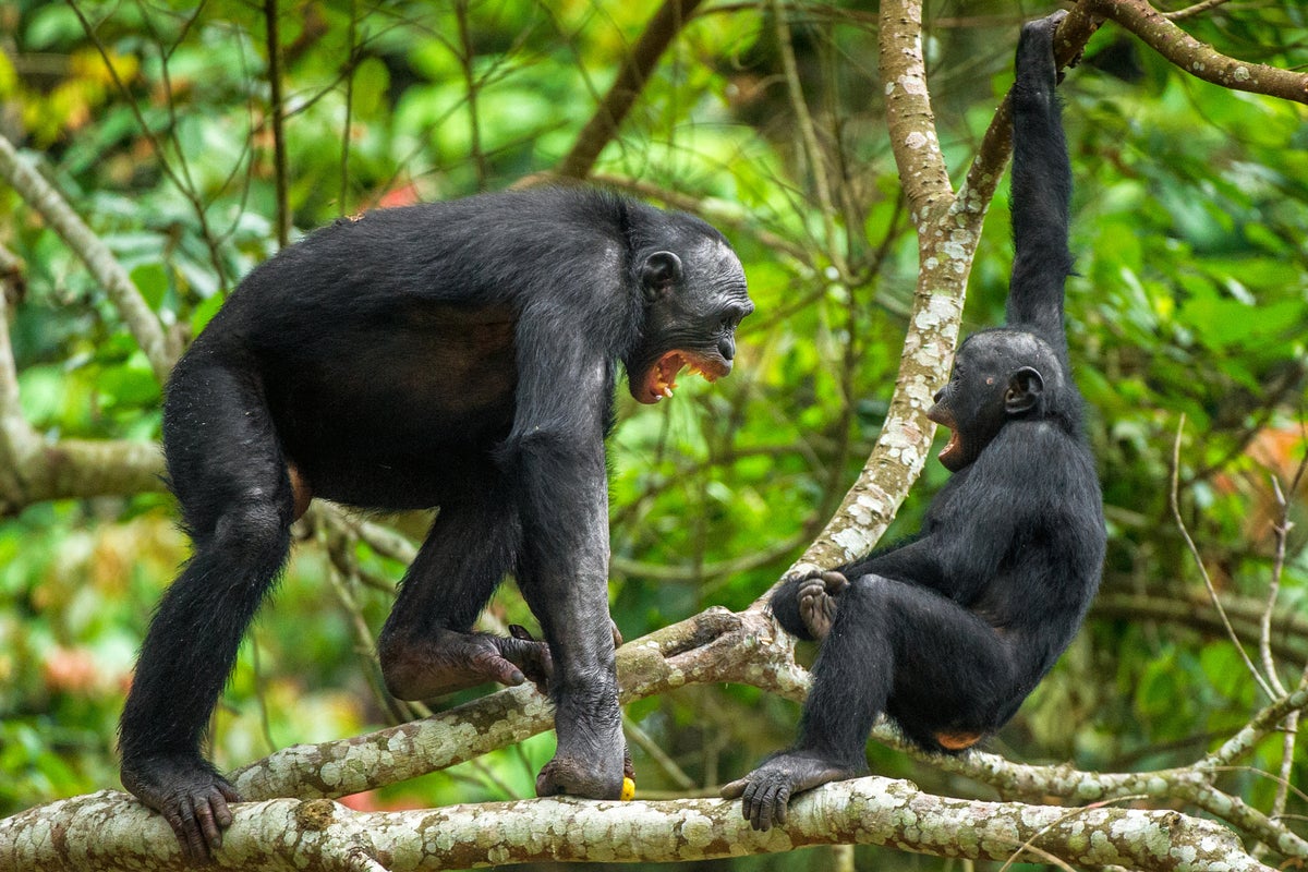
[[(286, 3), (279, 102), (262, 8), (18, 0), (0, 7), (0, 132), (26, 159), (39, 156), (184, 340), (276, 251), (279, 226), (293, 239), (362, 209), (500, 190), (557, 167), (653, 9)], [(929, 5), (931, 99), (955, 182), (1011, 84), (1020, 21), (1049, 10)], [(880, 430), (918, 264), (875, 25), (870, 1), (708, 5), (590, 173), (722, 227), (759, 305), (730, 379), (684, 382), (653, 408), (620, 396), (611, 597), (627, 638), (753, 601), (831, 516)], [(1308, 65), (1308, 10), (1292, 0), (1232, 3), (1185, 26), (1241, 59)], [(1109, 556), (1086, 631), (991, 750), (1159, 769), (1192, 761), (1267, 702), (1175, 523), (1179, 435), (1180, 516), (1235, 630), (1262, 663), (1258, 625), (1271, 616), (1266, 648), (1286, 685), (1308, 662), (1304, 477), (1294, 486), (1308, 446), (1308, 115), (1189, 78), (1112, 27), (1061, 90), (1080, 273), (1069, 292), (1071, 354), (1092, 407)], [(820, 179), (835, 184), (824, 191)], [(1006, 196), (980, 243), (964, 329), (1002, 318)], [(0, 254), (14, 260), (5, 293), (26, 421), (51, 443), (157, 439), (160, 382), (106, 288), (8, 187)], [(566, 373), (559, 386), (568, 390)], [(929, 464), (889, 536), (916, 528), (944, 477)], [(118, 784), (114, 732), (135, 650), (187, 548), (158, 484), (131, 481), (73, 482), (58, 499), (0, 493), (0, 817)], [(1299, 524), (1278, 536), (1287, 516)], [(374, 520), (411, 539), (425, 524)], [(403, 565), (362, 543), (323, 546), (322, 529), (305, 539), (215, 718), (220, 767), (412, 714), (379, 694), (368, 642)], [(493, 612), (531, 626), (511, 586)], [(797, 714), (725, 685), (629, 706), (641, 792), (715, 792), (786, 744)], [(552, 736), (538, 736), (352, 803), (530, 796), (551, 752)], [(1278, 778), (1301, 784), (1308, 767), (1301, 743), (1292, 767), (1283, 752), (1279, 736), (1264, 741), (1223, 775), (1224, 790), (1271, 807)], [(990, 795), (875, 743), (870, 756), (874, 771), (929, 790)], [(1287, 801), (1290, 814), (1308, 812), (1298, 791)]]

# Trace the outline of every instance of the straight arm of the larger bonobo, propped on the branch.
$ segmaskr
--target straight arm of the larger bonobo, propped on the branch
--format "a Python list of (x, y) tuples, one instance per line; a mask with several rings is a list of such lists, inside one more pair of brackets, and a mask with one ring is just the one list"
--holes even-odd
[(617, 799), (625, 743), (608, 616), (604, 463), (612, 366), (590, 348), (594, 333), (581, 318), (549, 315), (519, 320), (518, 408), (502, 448), (522, 516), (518, 586), (553, 660), (559, 745), (536, 792)]

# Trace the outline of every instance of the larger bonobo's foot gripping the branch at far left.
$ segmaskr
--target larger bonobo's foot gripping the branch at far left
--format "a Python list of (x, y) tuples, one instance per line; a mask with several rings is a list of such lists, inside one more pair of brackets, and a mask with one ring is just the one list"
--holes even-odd
[(123, 760), (123, 787), (173, 828), (188, 863), (204, 865), (222, 847), (222, 830), (232, 825), (228, 803), (241, 796), (199, 754), (161, 754)]

